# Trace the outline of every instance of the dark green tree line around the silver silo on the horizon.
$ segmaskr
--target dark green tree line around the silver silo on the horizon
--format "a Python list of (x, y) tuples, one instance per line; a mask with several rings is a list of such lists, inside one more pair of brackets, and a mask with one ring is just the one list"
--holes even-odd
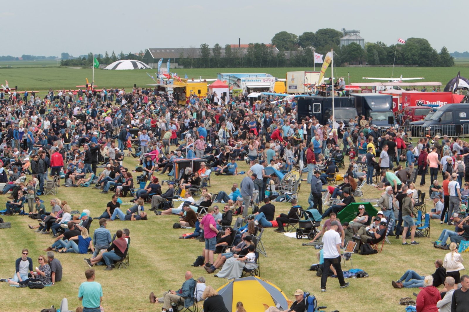
[(220, 44), (215, 44), (212, 50), (208, 44), (201, 44), (198, 53), (191, 53), (190, 48), (186, 55), (181, 53), (178, 64), (184, 68), (312, 67), (314, 47), (319, 54), (333, 49), (335, 65), (355, 61), (369, 65), (454, 65), (454, 58), (446, 47), (438, 52), (424, 38), (408, 38), (406, 44), (389, 46), (382, 42), (367, 42), (363, 49), (356, 43), (340, 47), (341, 37), (342, 32), (330, 28), (304, 32), (300, 36), (281, 31), (272, 37), (272, 44), (279, 52), (264, 43), (250, 43), (245, 52), (227, 44), (223, 58)]

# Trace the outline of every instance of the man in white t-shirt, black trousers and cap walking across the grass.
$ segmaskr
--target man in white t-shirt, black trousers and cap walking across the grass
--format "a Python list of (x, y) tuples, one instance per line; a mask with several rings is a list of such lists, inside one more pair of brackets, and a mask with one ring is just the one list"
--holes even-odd
[(331, 267), (331, 264), (337, 271), (340, 288), (345, 288), (350, 285), (350, 283), (345, 283), (344, 274), (342, 272), (342, 268), (340, 267), (340, 262), (342, 260), (340, 257), (340, 245), (342, 244), (342, 240), (340, 239), (340, 235), (337, 232), (339, 225), (339, 221), (332, 221), (330, 230), (326, 231), (322, 238), (324, 245), (324, 264), (323, 273), (321, 276), (321, 292), (325, 292), (325, 284), (327, 282), (327, 276), (329, 276), (329, 268)]

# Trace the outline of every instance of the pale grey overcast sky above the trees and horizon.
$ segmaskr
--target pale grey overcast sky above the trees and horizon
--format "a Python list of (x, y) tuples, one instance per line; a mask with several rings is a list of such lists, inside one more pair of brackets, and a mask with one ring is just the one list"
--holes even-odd
[(461, 32), (466, 14), (463, 7), (433, 0), (17, 0), (0, 11), (3, 33), (11, 39), (3, 41), (0, 54), (118, 54), (224, 46), (237, 44), (238, 37), (242, 44), (270, 43), (280, 31), (299, 36), (320, 28), (359, 29), (366, 42), (388, 45), (398, 38), (426, 38), (437, 51), (446, 46), (462, 52), (469, 50)]

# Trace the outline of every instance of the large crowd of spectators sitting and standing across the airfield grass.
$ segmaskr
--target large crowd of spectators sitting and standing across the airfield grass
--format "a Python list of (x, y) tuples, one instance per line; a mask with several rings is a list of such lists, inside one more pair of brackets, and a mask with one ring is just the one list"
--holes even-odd
[[(297, 198), (290, 200), (288, 214), (276, 213), (280, 179), (268, 167), (273, 172), (287, 173), (295, 169), (300, 176), (307, 174), (304, 179), (310, 184), (307, 209), (317, 210), (320, 218), (329, 217), (312, 240), (323, 237), (322, 291), (326, 290), (329, 268), (339, 276), (341, 288), (348, 286), (340, 277), (340, 247), (348, 241), (367, 243), (385, 236), (396, 239), (401, 236), (402, 245), (418, 244), (414, 217), (420, 198), (411, 180), (415, 175), (421, 176), (420, 186), (425, 187), (425, 175), (430, 173), (429, 194), (434, 204), (431, 218), (456, 227), (454, 232), (444, 231), (436, 245), (451, 249), (451, 244), (446, 247), (448, 238), (454, 246), (469, 239), (469, 234), (465, 235), (466, 229), (469, 233), (467, 218), (461, 218), (465, 214), (463, 202), (469, 195), (469, 144), (460, 138), (425, 137), (414, 144), (399, 126), (382, 130), (365, 116), (350, 119), (348, 125), (335, 123), (331, 116), (327, 123), (320, 124), (314, 117), (298, 116), (295, 100), (274, 104), (272, 99), (262, 98), (250, 103), (247, 94), (229, 101), (216, 94), (204, 98), (190, 94), (189, 103), (179, 106), (177, 96), (145, 88), (113, 89), (105, 94), (96, 90), (78, 94), (61, 90), (56, 94), (50, 90), (44, 97), (33, 93), (26, 99), (18, 93), (0, 94), (6, 130), (0, 145), (0, 182), (6, 183), (1, 194), (11, 200), (6, 203), (5, 215), (24, 211), (28, 203), (26, 214), (39, 221), (39, 225), (30, 228), (53, 235), (54, 239), (45, 248), (48, 256), (39, 256), (36, 271), (32, 270), (27, 251), (23, 252), (17, 261), (21, 265), (17, 267), (16, 277), (6, 279), (8, 283), (48, 285), (59, 281), (54, 279), (57, 275), (48, 264), (54, 260), (53, 251), (91, 252), (92, 257), (84, 259), (90, 268), (105, 265), (106, 270), (112, 270), (116, 262), (126, 257), (129, 230), (117, 230), (112, 239), (106, 224), (117, 220), (147, 220), (145, 203), (150, 203), (149, 211), (156, 216), (176, 215), (178, 227), (194, 229), (180, 238), (204, 241), (201, 265), (207, 273), (219, 270), (217, 277), (240, 277), (243, 270), (257, 265), (255, 241), (259, 228), (276, 225), (275, 232), (285, 232), (284, 224), (300, 219), (297, 211), (302, 207)], [(202, 159), (197, 162), (199, 167), (189, 165), (184, 170), (177, 169), (178, 161), (196, 158)], [(343, 183), (330, 186), (330, 181), (335, 180), (344, 166), (345, 158), (349, 167)], [(136, 160), (135, 170), (129, 169), (129, 159)], [(246, 174), (241, 171), (244, 165), (239, 166), (244, 161), (249, 166)], [(209, 193), (212, 179), (218, 179), (212, 173), (235, 176), (231, 192)], [(439, 174), (443, 177), (441, 182)], [(95, 218), (86, 209), (72, 211), (66, 201), (58, 198), (50, 200), (51, 211), (47, 212), (39, 196), (44, 195), (46, 181), (51, 180), (56, 187), (91, 188), (94, 184), (100, 191), (90, 191), (102, 198), (106, 195), (101, 194), (112, 192), (111, 201)], [(167, 188), (163, 189), (165, 182)], [(144, 185), (136, 189), (140, 183)], [(383, 191), (377, 202), (380, 211), (371, 216), (361, 205), (353, 221), (340, 223), (337, 214), (356, 202), (355, 191), (364, 184)], [(324, 207), (323, 211), (325, 192), (340, 201), (327, 209)], [(124, 197), (133, 203), (127, 210), (120, 205)], [(252, 214), (248, 212), (249, 206)], [(242, 216), (243, 222), (233, 227), (236, 215)], [(93, 219), (99, 220), (99, 227), (91, 235)], [(408, 238), (410, 243), (406, 241)], [(454, 249), (451, 249), (452, 257)], [(216, 259), (214, 254), (218, 254)], [(452, 258), (439, 267), (453, 262)], [(406, 287), (408, 276), (416, 279), (415, 274), (409, 273), (395, 282), (396, 286)], [(454, 277), (455, 284), (460, 283), (455, 276), (448, 275), (448, 270), (446, 276)], [(86, 278), (92, 282), (94, 274), (89, 271)], [(420, 278), (423, 285), (434, 284), (436, 280), (435, 276), (432, 282)], [(167, 311), (180, 297), (193, 300), (198, 282), (189, 271), (186, 282), (186, 287), (154, 297), (153, 302), (161, 301), (163, 310)], [(217, 296), (212, 288), (207, 286), (207, 289), (206, 298)], [(429, 289), (427, 296), (431, 294)], [(207, 305), (216, 305), (216, 300)], [(185, 304), (190, 304), (189, 301)], [(92, 302), (94, 308), (97, 304)]]

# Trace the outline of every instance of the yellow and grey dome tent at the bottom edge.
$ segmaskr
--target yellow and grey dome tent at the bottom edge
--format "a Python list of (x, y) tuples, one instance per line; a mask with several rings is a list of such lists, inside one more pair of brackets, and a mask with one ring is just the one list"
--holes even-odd
[(235, 278), (217, 291), (228, 311), (236, 311), (238, 301), (249, 312), (264, 312), (263, 304), (277, 306), (280, 311), (288, 310), (287, 296), (283, 291), (258, 276)]

